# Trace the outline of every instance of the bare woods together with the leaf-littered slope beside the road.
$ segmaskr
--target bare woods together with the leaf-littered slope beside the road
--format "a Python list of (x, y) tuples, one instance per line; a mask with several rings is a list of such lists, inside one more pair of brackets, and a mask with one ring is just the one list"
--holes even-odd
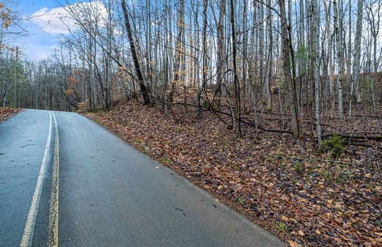
[(291, 246), (382, 246), (382, 1), (62, 2), (37, 62), (0, 5), (1, 105), (84, 114)]

